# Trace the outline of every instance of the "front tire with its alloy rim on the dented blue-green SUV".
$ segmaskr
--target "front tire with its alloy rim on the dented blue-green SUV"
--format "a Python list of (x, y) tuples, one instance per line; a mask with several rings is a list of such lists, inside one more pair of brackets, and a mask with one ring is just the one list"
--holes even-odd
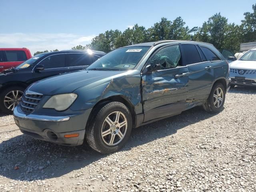
[(96, 109), (86, 128), (86, 140), (91, 148), (109, 154), (122, 148), (132, 131), (132, 115), (121, 102), (109, 102)]

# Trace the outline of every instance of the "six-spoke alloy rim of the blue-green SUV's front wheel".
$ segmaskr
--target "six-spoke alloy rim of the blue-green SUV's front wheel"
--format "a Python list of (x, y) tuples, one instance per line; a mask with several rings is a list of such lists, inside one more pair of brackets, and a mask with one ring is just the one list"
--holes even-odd
[(115, 111), (110, 113), (104, 120), (101, 128), (101, 137), (104, 143), (108, 146), (114, 146), (120, 143), (127, 131), (126, 116)]

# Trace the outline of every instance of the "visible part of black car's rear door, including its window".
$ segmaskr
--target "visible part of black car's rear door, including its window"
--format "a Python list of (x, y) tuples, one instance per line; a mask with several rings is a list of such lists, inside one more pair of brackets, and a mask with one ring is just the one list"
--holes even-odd
[(87, 68), (99, 57), (92, 54), (70, 53), (66, 54), (66, 65), (70, 71), (81, 70)]

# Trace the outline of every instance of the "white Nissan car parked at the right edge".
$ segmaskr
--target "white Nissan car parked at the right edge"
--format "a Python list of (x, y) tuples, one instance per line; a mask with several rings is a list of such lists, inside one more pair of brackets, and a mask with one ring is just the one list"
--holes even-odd
[(229, 64), (231, 86), (256, 86), (256, 48)]

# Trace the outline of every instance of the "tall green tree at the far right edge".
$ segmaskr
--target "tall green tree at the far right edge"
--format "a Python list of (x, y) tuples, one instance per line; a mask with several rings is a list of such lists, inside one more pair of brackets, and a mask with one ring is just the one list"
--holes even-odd
[(242, 20), (243, 42), (256, 42), (256, 4), (252, 5), (253, 12), (244, 13)]

